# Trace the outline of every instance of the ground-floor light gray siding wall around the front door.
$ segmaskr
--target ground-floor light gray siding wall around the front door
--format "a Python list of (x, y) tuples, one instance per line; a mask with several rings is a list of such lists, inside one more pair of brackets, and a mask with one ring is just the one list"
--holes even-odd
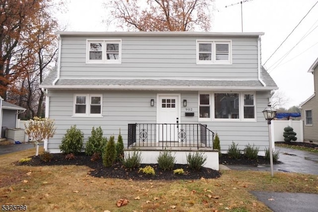
[[(49, 140), (50, 151), (59, 151), (62, 137), (72, 125), (83, 131), (85, 142), (90, 136), (93, 126), (101, 126), (104, 135), (109, 138), (114, 135), (116, 140), (119, 129), (123, 135), (125, 147), (127, 146), (128, 123), (156, 123), (157, 108), (150, 106), (150, 100), (157, 99), (157, 92), (140, 91), (94, 91), (93, 94), (103, 95), (103, 117), (72, 117), (74, 94), (87, 93), (85, 91), (64, 92), (50, 91), (50, 118), (55, 119), (57, 130), (54, 138)], [(158, 92), (162, 93), (162, 92)], [(202, 123), (217, 132), (221, 140), (221, 148), (228, 150), (232, 141), (243, 149), (248, 143), (255, 144), (263, 150), (268, 147), (268, 128), (262, 110), (268, 103), (268, 92), (256, 93), (256, 121), (200, 121), (198, 122), (198, 92), (180, 93), (181, 101), (187, 100), (187, 107), (192, 107), (195, 116), (185, 116), (185, 107), (181, 106), (181, 123)], [(169, 93), (166, 93), (167, 95)]]

